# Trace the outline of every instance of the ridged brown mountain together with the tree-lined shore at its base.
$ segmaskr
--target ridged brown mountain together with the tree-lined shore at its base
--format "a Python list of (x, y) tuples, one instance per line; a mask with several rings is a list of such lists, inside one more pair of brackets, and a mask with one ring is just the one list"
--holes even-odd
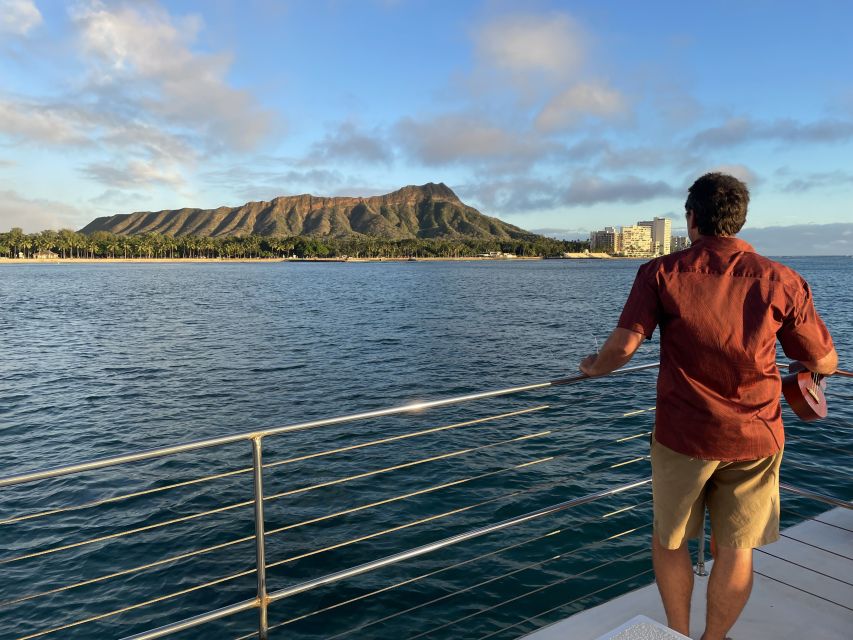
[(282, 196), (104, 216), (79, 231), (0, 233), (0, 255), (24, 260), (542, 258), (586, 246), (484, 215), (432, 182), (370, 197)]

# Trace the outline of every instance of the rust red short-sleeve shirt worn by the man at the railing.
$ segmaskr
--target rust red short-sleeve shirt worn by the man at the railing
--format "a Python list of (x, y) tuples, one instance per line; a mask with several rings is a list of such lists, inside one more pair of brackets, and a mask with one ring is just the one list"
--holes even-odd
[(784, 444), (776, 340), (817, 360), (832, 339), (793, 269), (734, 237), (702, 236), (637, 272), (619, 327), (660, 326), (655, 438), (705, 460), (754, 460)]

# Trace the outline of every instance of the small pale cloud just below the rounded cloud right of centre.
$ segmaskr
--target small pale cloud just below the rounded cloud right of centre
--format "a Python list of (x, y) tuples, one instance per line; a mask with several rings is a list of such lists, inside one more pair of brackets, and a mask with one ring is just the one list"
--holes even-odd
[(576, 84), (557, 94), (536, 116), (536, 127), (558, 131), (587, 117), (614, 118), (627, 113), (628, 105), (618, 91), (595, 82)]

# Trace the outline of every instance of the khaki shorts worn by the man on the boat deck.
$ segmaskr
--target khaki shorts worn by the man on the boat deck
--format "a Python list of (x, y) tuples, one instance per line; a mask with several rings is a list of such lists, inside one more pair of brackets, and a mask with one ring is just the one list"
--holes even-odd
[(654, 530), (677, 549), (702, 530), (705, 505), (716, 544), (754, 549), (779, 539), (782, 452), (759, 460), (720, 462), (677, 453), (652, 439)]

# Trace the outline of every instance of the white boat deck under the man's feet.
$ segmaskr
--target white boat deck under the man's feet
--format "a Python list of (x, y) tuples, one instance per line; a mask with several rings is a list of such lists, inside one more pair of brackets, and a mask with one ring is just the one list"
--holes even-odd
[[(752, 596), (729, 633), (733, 640), (853, 638), (853, 510), (836, 508), (786, 529), (780, 540), (754, 552), (754, 564)], [(694, 639), (701, 638), (704, 629), (707, 580), (695, 579), (690, 623)], [(539, 629), (524, 640), (684, 638), (652, 621), (666, 624), (654, 584)], [(643, 635), (644, 630), (649, 633)]]

